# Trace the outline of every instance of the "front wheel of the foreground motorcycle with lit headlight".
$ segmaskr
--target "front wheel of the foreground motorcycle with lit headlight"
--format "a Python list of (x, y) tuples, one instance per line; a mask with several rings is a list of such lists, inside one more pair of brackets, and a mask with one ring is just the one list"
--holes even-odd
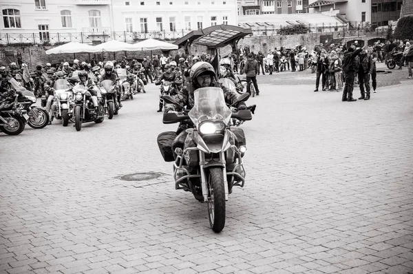
[(209, 168), (207, 184), (209, 225), (213, 231), (218, 233), (225, 226), (224, 173), (221, 167)]

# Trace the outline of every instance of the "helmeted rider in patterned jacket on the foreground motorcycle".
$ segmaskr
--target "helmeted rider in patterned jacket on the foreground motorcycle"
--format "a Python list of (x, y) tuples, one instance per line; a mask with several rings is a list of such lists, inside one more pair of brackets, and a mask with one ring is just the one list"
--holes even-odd
[[(213, 66), (208, 62), (198, 62), (195, 63), (191, 67), (190, 72), (191, 83), (184, 86), (178, 94), (173, 96), (176, 101), (182, 106), (185, 106), (187, 109), (191, 109), (194, 104), (194, 96), (193, 92), (200, 87), (220, 87), (224, 92), (225, 102), (229, 103), (230, 105), (234, 103), (238, 97), (235, 92), (232, 92), (229, 89), (223, 87), (218, 81), (215, 81), (216, 75)], [(244, 102), (240, 102), (236, 106), (238, 109), (246, 109), (246, 105)], [(178, 112), (180, 109), (178, 105), (174, 105), (171, 103), (165, 104), (165, 113), (167, 112)], [(178, 136), (176, 136), (175, 140), (173, 141), (173, 151), (175, 151), (176, 147), (181, 147), (183, 149), (184, 140), (187, 138), (187, 129), (186, 124), (180, 124), (178, 127), (178, 131), (176, 132)]]

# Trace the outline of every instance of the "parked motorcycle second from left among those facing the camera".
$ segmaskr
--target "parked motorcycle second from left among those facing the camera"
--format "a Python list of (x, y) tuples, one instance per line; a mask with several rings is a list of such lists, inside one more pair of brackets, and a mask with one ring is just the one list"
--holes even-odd
[(82, 129), (82, 123), (92, 122), (98, 124), (105, 120), (103, 105), (98, 102), (97, 109), (94, 107), (92, 101), (86, 99), (91, 96), (90, 92), (83, 85), (76, 85), (73, 87), (74, 95), (74, 126), (76, 131)]

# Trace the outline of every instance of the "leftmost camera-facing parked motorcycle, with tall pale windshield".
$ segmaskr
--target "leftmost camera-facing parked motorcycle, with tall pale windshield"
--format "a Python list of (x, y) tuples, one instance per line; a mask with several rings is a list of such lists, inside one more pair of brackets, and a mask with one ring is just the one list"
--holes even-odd
[(72, 85), (66, 79), (57, 79), (53, 88), (52, 115), (58, 120), (63, 120), (63, 127), (67, 127), (74, 111)]

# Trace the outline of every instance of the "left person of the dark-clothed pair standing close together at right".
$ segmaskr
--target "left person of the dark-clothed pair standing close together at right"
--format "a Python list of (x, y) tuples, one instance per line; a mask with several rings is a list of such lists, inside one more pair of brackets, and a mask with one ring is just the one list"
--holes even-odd
[[(364, 48), (363, 48), (364, 49)], [(352, 44), (348, 48), (347, 52), (344, 52), (343, 56), (343, 73), (344, 73), (344, 82), (345, 87), (343, 89), (343, 98), (341, 101), (354, 102), (357, 99), (352, 98), (352, 91), (354, 88), (354, 59), (360, 54), (361, 48), (356, 49), (356, 45)]]

